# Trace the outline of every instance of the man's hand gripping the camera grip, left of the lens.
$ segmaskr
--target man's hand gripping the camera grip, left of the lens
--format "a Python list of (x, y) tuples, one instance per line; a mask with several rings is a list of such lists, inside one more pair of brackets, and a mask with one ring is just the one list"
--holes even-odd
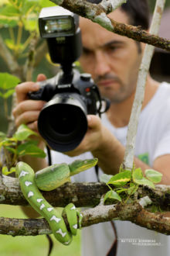
[[(46, 80), (46, 76), (44, 74), (39, 74), (37, 77), (37, 81)], [(15, 117), (15, 125), (19, 126), (22, 123), (25, 123), (29, 126), (30, 129), (38, 132), (37, 129), (37, 119), (39, 117), (39, 112), (42, 109), (42, 106), (46, 102), (36, 101), (29, 99), (28, 92), (36, 92), (39, 90), (39, 84), (26, 81), (20, 85), (17, 85), (15, 88), (16, 98), (17, 98), (17, 106), (13, 109), (13, 116)]]

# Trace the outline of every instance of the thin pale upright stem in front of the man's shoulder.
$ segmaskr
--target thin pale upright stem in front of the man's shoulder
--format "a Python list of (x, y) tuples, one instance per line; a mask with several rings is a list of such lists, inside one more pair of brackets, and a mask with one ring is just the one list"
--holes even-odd
[[(160, 26), (162, 12), (165, 6), (165, 0), (157, 0), (155, 5), (155, 12), (151, 22), (150, 32), (158, 34), (158, 29)], [(127, 133), (127, 144), (125, 147), (123, 168), (131, 170), (134, 163), (134, 147), (136, 141), (136, 133), (138, 130), (138, 119), (141, 113), (142, 103), (145, 96), (145, 84), (148, 75), (148, 70), (151, 64), (151, 57), (154, 53), (154, 47), (151, 45), (146, 45), (144, 56), (141, 61), (141, 67), (138, 74), (138, 82), (136, 93), (134, 96), (134, 103), (131, 110), (131, 117), (128, 124)]]

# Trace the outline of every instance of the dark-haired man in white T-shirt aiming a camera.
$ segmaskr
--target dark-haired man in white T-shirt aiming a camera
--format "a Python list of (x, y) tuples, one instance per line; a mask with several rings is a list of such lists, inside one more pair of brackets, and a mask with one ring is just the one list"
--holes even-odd
[[(89, 1), (90, 2), (90, 1)], [(142, 26), (148, 29), (148, 5), (146, 1), (129, 0), (120, 9), (110, 13), (110, 17), (118, 22)], [(108, 32), (98, 24), (87, 19), (80, 19), (83, 39), (83, 54), (80, 64), (83, 71), (92, 74), (100, 89), (100, 93), (110, 99), (111, 105), (107, 114), (102, 116), (102, 123), (97, 116), (88, 116), (88, 131), (81, 144), (66, 155), (52, 152), (55, 162), (73, 161), (72, 157), (90, 157), (99, 159), (99, 166), (107, 174), (117, 173), (124, 157), (124, 145), (131, 115), (131, 106), (138, 79), (138, 68), (145, 45), (124, 36)], [(38, 81), (46, 79), (43, 74)], [(17, 126), (26, 123), (32, 130), (37, 130), (39, 111), (45, 102), (32, 101), (27, 97), (29, 91), (36, 91), (39, 85), (26, 82), (17, 86), (18, 106), (13, 111)], [(139, 120), (135, 148), (134, 164), (142, 171), (154, 168), (163, 174), (162, 184), (170, 184), (170, 88), (161, 85), (148, 74), (145, 100)], [(57, 115), (57, 113), (56, 113)], [(43, 147), (42, 140), (39, 147)], [(91, 153), (90, 153), (90, 152)], [(77, 159), (77, 157), (76, 157)], [(141, 161), (140, 159), (145, 159)], [(46, 166), (45, 161), (30, 159), (34, 169)], [(101, 173), (101, 171), (100, 171)], [(93, 170), (82, 172), (74, 177), (74, 181), (96, 182)], [(168, 237), (155, 234), (151, 230), (138, 227), (132, 223), (117, 221), (119, 244), (117, 255), (168, 255)], [(124, 238), (128, 238), (125, 240)], [(133, 243), (130, 239), (136, 239)], [(148, 240), (147, 243), (141, 240)], [(114, 241), (114, 232), (110, 223), (100, 223), (83, 228), (83, 255), (106, 255)], [(144, 242), (144, 241), (143, 241)], [(152, 245), (151, 245), (152, 242)]]

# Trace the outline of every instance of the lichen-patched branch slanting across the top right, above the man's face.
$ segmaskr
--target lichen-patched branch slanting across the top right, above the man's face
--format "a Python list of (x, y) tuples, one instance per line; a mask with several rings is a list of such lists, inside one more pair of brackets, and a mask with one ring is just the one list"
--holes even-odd
[(104, 9), (104, 6), (101, 4), (95, 5), (83, 0), (50, 1), (80, 16), (91, 19), (93, 22), (99, 23), (100, 26), (103, 26), (105, 29), (111, 32), (117, 33), (121, 36), (128, 36), (131, 39), (143, 43), (148, 43), (155, 47), (170, 51), (170, 40), (166, 40), (162, 37), (146, 33), (145, 30), (142, 30), (139, 27), (126, 25), (110, 19), (109, 17), (107, 17), (107, 13), (110, 12), (111, 9)]

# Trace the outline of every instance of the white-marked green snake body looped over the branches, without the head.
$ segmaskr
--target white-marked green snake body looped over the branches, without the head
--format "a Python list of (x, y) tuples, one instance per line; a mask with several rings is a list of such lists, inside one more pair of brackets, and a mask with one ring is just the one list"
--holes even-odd
[[(52, 165), (53, 167), (53, 165)], [(63, 211), (66, 213), (70, 232), (66, 229), (62, 213), (53, 208), (42, 196), (36, 184), (35, 172), (22, 161), (16, 165), (16, 176), (19, 178), (20, 187), (26, 200), (49, 223), (54, 236), (60, 243), (68, 245), (72, 241), (72, 235), (76, 235), (77, 228), (81, 227), (82, 214), (76, 210), (73, 203), (68, 204)], [(52, 190), (52, 189), (51, 189)], [(77, 216), (79, 221), (77, 222)]]

